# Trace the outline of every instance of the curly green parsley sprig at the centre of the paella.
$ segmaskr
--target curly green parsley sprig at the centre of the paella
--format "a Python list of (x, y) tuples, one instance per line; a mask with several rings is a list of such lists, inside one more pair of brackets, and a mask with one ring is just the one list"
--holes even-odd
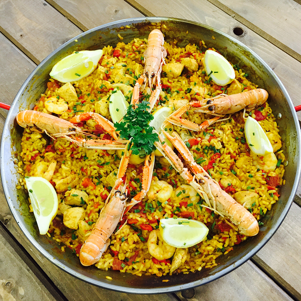
[(149, 155), (156, 149), (155, 141), (159, 141), (157, 133), (153, 133), (153, 128), (148, 123), (154, 119), (154, 116), (147, 111), (148, 101), (142, 101), (134, 109), (129, 106), (123, 121), (114, 123), (116, 131), (119, 131), (120, 138), (132, 138), (132, 152), (138, 155), (141, 149)]

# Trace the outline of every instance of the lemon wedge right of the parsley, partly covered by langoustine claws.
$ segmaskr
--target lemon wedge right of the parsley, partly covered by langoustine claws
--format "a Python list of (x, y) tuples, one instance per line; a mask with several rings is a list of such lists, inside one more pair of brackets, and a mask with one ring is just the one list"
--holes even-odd
[[(172, 143), (167, 139), (167, 137), (164, 135), (164, 132), (161, 130), (161, 125), (165, 121), (165, 118), (168, 117), (172, 113), (172, 108), (171, 107), (161, 107), (154, 111), (153, 116), (154, 119), (150, 121), (149, 125), (153, 126), (155, 131), (158, 132), (164, 139), (166, 145), (174, 149), (174, 146)], [(172, 132), (172, 127), (166, 128), (169, 134)], [(158, 151), (158, 149), (155, 150), (155, 156), (162, 157), (163, 155)]]

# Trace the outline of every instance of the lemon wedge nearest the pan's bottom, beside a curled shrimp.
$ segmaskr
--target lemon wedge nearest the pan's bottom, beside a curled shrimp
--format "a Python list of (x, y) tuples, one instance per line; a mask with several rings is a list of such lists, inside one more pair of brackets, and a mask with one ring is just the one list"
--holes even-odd
[(160, 234), (163, 240), (176, 248), (188, 248), (203, 241), (209, 229), (193, 219), (160, 219)]

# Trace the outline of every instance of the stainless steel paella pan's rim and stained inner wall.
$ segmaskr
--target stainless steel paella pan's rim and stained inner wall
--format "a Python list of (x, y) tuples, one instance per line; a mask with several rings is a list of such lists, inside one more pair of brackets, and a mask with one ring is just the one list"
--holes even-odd
[[(67, 248), (67, 252), (61, 253), (56, 242), (46, 235), (39, 235), (33, 214), (28, 212), (27, 195), (25, 191), (16, 189), (19, 175), (14, 160), (17, 153), (20, 153), (22, 129), (17, 126), (15, 117), (20, 110), (33, 108), (40, 93), (46, 89), (51, 68), (61, 58), (74, 50), (93, 50), (106, 45), (114, 47), (120, 41), (118, 33), (125, 43), (134, 37), (147, 38), (154, 27), (152, 22), (161, 25), (166, 41), (173, 41), (175, 38), (184, 46), (188, 43), (198, 45), (200, 40), (204, 40), (207, 46), (218, 49), (231, 62), (243, 66), (249, 73), (250, 80), (268, 91), (268, 101), (274, 114), (281, 113), (282, 116), (278, 124), (288, 165), (284, 174), (286, 184), (280, 191), (281, 197), (264, 217), (264, 226), (260, 227), (259, 234), (235, 246), (227, 256), (219, 257), (219, 265), (186, 275), (136, 277), (129, 273), (102, 271), (94, 266), (83, 267), (71, 250)], [(126, 28), (126, 25), (130, 28)], [(213, 35), (215, 40), (212, 39)], [(295, 196), (300, 176), (299, 151), (300, 127), (292, 101), (278, 77), (258, 55), (239, 41), (209, 26), (180, 19), (151, 17), (127, 19), (96, 27), (70, 40), (46, 57), (28, 77), (14, 99), (3, 130), (0, 161), (2, 184), (14, 218), (33, 246), (48, 260), (67, 273), (99, 287), (126, 293), (154, 294), (184, 290), (213, 281), (243, 264), (262, 248), (278, 229)], [(107, 280), (106, 276), (113, 279)], [(163, 279), (168, 279), (169, 282), (162, 282)]]

